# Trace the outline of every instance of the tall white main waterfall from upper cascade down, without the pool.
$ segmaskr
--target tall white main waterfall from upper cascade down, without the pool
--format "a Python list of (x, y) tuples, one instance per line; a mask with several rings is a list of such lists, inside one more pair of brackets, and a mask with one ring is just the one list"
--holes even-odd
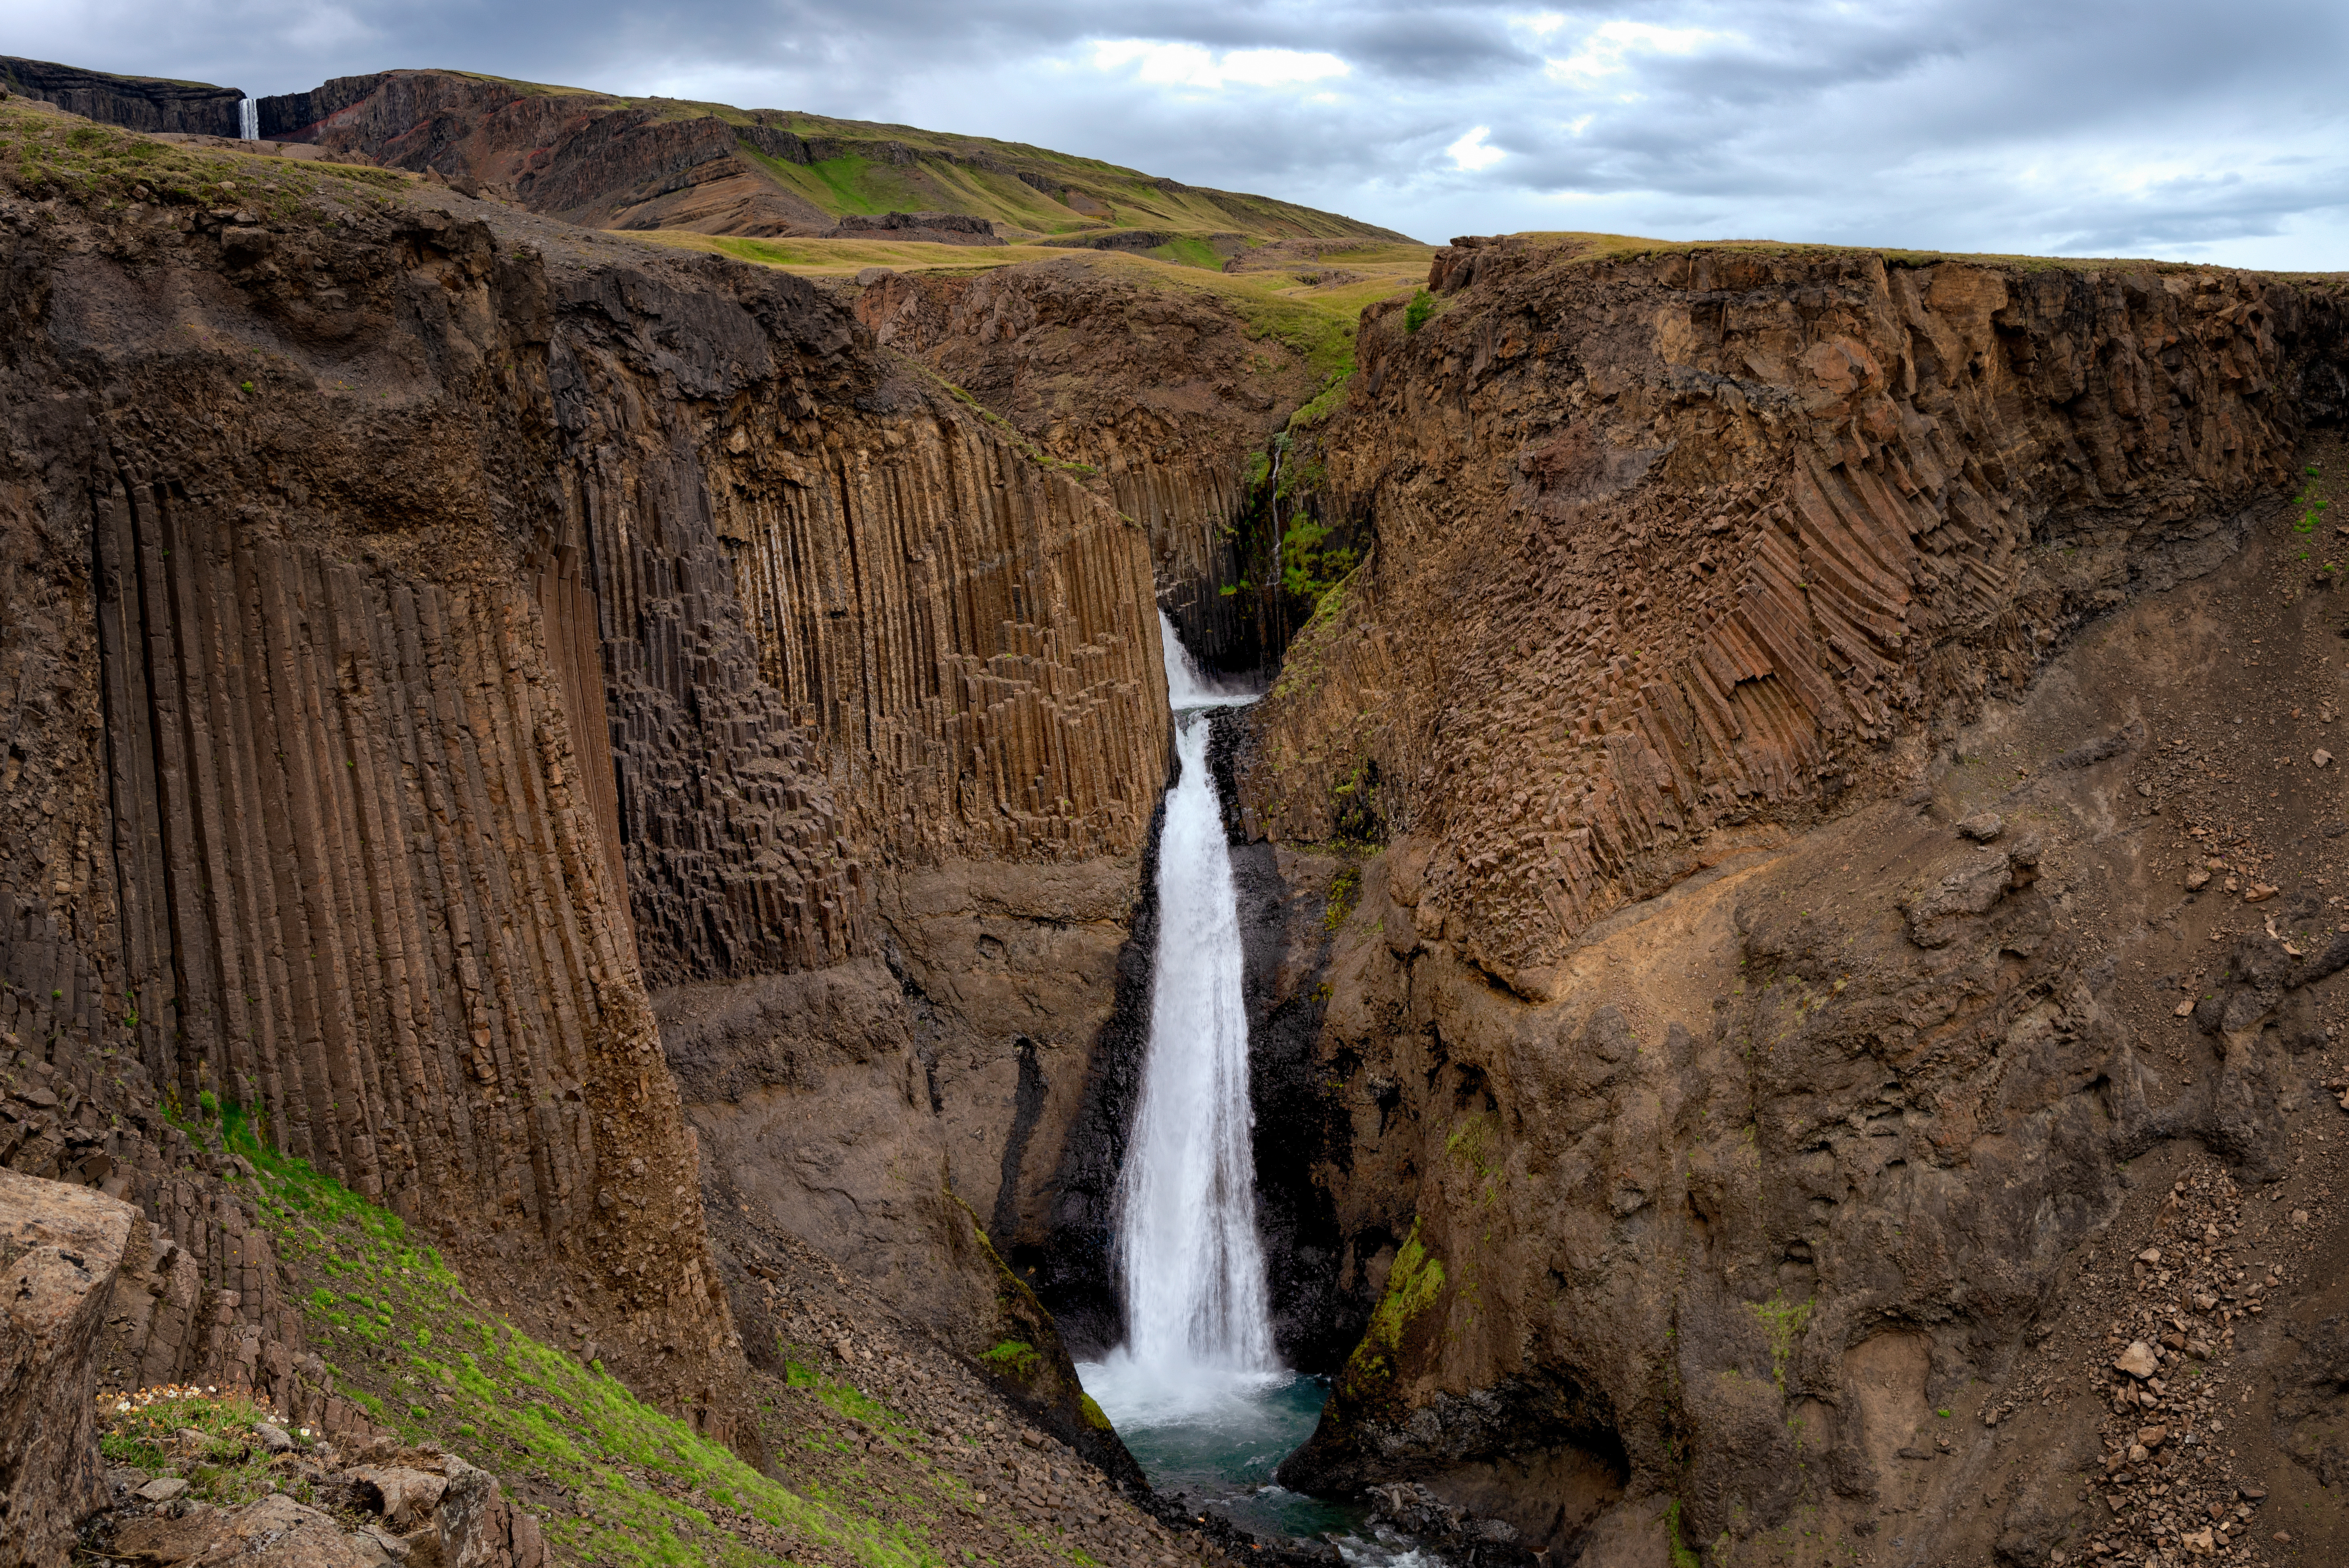
[(1214, 688), (1160, 615), (1182, 775), (1158, 838), (1158, 962), (1142, 1106), (1118, 1174), (1118, 1272), (1135, 1371), (1273, 1371), (1257, 1246), (1240, 908), (1207, 770)]

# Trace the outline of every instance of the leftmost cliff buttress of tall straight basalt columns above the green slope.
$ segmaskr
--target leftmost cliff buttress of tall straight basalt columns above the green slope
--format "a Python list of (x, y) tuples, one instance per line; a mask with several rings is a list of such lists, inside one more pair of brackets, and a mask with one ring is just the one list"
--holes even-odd
[[(491, 1279), (594, 1289), (615, 1359), (667, 1359), (691, 1401), (728, 1336), (693, 1145), (580, 655), (531, 592), (573, 538), (547, 270), (479, 223), (362, 214), (14, 230), (12, 307), (45, 322), (5, 369), (42, 387), (12, 394), (45, 411), (16, 451), (75, 455), (19, 455), (0, 528), (7, 660), (40, 692), (0, 850), (7, 1023), (85, 1120), (12, 1162), (120, 1178), (157, 1225), (124, 1350), (148, 1376), (303, 1350), (160, 1113), (235, 1115)], [(193, 1324), (169, 1249), (211, 1275)]]

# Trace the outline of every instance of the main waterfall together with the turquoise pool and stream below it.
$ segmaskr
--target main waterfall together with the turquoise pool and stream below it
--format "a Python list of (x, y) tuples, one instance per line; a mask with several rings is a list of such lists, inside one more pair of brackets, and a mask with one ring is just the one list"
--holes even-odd
[(1257, 1246), (1254, 1115), (1240, 906), (1207, 770), (1207, 714), (1254, 702), (1203, 674), (1158, 617), (1174, 756), (1158, 836), (1158, 960), (1142, 1101), (1118, 1171), (1125, 1345), (1078, 1364), (1151, 1486), (1245, 1530), (1322, 1537), (1353, 1563), (1431, 1561), (1367, 1526), (1367, 1509), (1273, 1486), (1330, 1387), (1273, 1352)]

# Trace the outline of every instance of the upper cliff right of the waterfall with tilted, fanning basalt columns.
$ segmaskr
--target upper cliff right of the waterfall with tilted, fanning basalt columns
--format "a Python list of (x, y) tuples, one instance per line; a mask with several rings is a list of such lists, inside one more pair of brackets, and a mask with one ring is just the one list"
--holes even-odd
[(1900, 786), (1891, 742), (2208, 554), (2335, 331), (2180, 268), (1470, 242), (1433, 282), (1416, 336), (1365, 315), (1325, 460), (1379, 552), (1245, 791), (1318, 840), (1374, 777), (1431, 850), (1421, 918), (1536, 998), (1593, 920)]

